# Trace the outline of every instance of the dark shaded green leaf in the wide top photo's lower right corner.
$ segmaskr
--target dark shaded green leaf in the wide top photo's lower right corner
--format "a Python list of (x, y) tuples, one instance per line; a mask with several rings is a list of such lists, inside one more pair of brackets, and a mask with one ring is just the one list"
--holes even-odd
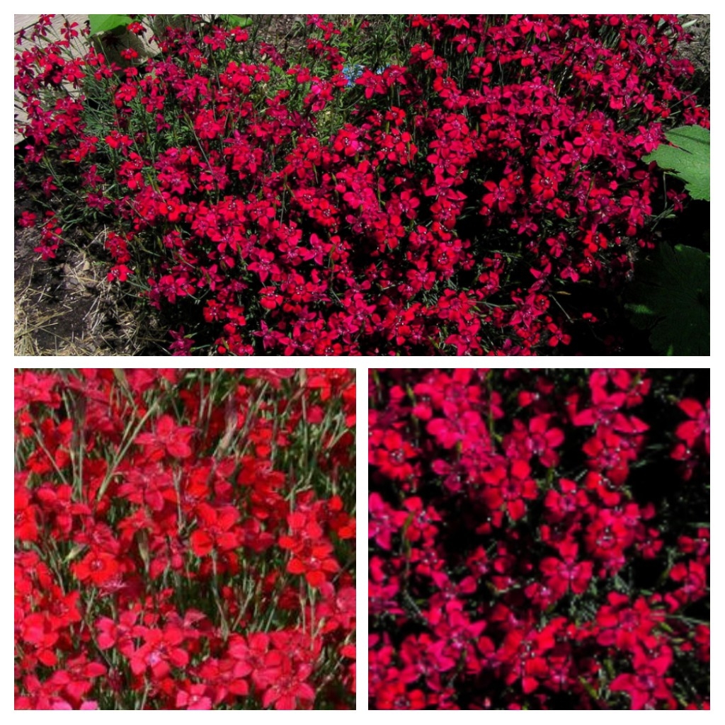
[(662, 244), (634, 270), (625, 305), (658, 355), (710, 355), (710, 255)]

